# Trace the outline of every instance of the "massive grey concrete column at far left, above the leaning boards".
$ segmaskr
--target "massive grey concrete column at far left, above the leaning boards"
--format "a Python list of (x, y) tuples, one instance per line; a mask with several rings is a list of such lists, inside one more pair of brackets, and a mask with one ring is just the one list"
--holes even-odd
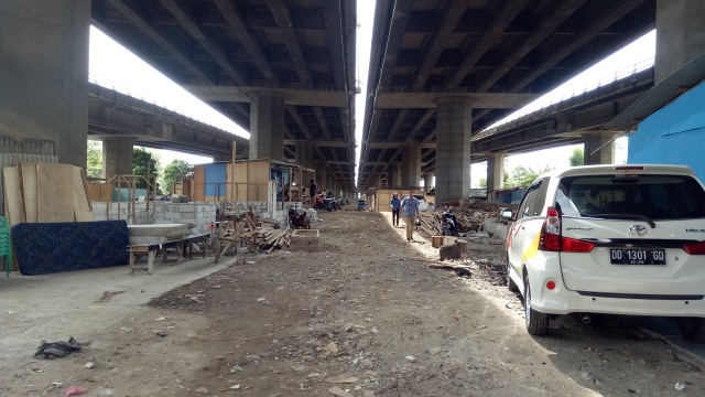
[(86, 168), (90, 1), (0, 1), (0, 136)]

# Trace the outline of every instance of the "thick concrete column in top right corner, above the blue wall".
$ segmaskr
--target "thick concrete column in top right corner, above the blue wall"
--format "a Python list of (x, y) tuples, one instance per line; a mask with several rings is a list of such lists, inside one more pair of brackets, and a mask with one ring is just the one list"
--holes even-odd
[(705, 2), (657, 0), (655, 84), (705, 52)]

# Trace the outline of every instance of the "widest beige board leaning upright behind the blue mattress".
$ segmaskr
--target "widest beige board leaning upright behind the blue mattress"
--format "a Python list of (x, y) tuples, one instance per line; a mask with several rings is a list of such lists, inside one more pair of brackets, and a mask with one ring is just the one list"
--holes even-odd
[(74, 222), (73, 179), (72, 164), (37, 164), (37, 222)]

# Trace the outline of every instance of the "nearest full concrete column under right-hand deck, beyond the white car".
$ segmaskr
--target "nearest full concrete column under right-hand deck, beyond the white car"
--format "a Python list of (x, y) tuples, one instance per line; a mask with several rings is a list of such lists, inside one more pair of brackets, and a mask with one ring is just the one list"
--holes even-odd
[(436, 100), (436, 195), (440, 207), (470, 193), (470, 139), (473, 104), (467, 98)]

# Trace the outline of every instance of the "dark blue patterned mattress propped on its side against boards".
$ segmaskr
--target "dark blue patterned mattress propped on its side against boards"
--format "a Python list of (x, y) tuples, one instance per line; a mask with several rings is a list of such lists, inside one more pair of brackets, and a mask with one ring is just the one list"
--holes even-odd
[(124, 221), (22, 223), (12, 227), (20, 273), (46, 275), (128, 265)]

